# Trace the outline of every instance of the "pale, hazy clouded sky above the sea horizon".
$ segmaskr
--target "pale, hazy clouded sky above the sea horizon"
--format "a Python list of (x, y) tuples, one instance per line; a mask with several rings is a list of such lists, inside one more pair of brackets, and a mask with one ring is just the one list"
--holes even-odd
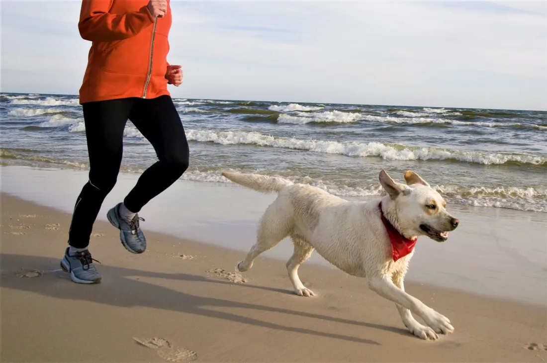
[[(142, 1), (146, 4), (146, 0)], [(80, 1), (2, 0), (0, 91), (77, 94)], [(547, 110), (545, 1), (171, 0), (173, 97)]]

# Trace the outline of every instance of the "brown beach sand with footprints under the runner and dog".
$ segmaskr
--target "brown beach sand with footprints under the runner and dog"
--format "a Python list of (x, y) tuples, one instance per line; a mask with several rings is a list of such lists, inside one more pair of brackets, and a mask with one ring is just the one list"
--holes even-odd
[[(101, 284), (59, 271), (70, 215), (1, 195), (2, 362), (539, 362), (546, 309), (407, 284), (455, 332), (411, 336), (364, 279), (304, 264), (316, 297), (292, 294), (283, 261), (147, 232), (132, 255), (98, 221), (91, 251)], [(544, 346), (545, 344), (545, 346)]]

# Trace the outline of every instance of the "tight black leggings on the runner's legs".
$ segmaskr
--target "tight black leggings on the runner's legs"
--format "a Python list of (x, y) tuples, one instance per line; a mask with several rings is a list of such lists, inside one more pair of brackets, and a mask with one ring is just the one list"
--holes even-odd
[(124, 128), (131, 120), (154, 147), (159, 161), (138, 179), (125, 197), (131, 212), (141, 208), (173, 184), (188, 168), (189, 149), (184, 127), (169, 96), (122, 98), (83, 104), (89, 151), (89, 182), (76, 200), (68, 243), (85, 248), (104, 198), (120, 171)]

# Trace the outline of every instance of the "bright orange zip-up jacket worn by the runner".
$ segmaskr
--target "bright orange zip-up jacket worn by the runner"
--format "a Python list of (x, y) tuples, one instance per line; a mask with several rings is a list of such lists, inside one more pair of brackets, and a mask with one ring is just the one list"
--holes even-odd
[(83, 0), (78, 28), (91, 40), (80, 103), (169, 95), (171, 8), (154, 19), (148, 0)]

